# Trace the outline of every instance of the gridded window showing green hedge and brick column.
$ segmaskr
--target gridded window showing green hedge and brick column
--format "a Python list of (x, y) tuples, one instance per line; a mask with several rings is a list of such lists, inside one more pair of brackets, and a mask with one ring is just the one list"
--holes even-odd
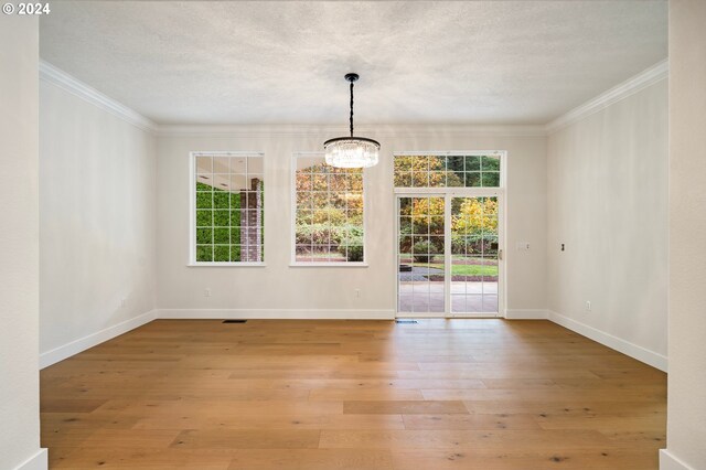
[(263, 156), (193, 152), (191, 158), (191, 264), (261, 264)]

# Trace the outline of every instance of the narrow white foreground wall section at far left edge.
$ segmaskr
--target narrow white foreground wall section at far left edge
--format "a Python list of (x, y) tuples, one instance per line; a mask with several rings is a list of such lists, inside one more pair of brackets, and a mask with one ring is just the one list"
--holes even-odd
[(39, 19), (0, 17), (0, 467), (46, 468), (39, 412)]

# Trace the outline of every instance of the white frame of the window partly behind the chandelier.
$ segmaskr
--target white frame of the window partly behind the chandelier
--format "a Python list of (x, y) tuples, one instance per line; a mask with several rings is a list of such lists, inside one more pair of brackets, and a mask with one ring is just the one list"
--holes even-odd
[(290, 175), (290, 267), (310, 268), (366, 268), (367, 264), (367, 169), (363, 169), (363, 260), (362, 261), (297, 261), (297, 159), (298, 158), (324, 158), (324, 152), (293, 152), (291, 156)]

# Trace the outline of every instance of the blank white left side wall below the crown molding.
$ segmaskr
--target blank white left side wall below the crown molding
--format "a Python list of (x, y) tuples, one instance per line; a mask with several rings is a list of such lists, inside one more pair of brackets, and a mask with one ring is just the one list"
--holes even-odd
[(154, 308), (156, 138), (46, 79), (40, 131), (40, 351), (50, 364)]

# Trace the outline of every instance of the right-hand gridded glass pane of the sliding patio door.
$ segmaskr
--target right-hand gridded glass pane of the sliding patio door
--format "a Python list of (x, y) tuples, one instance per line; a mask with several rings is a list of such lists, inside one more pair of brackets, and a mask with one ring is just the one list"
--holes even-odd
[(452, 197), (452, 314), (498, 314), (498, 197)]

